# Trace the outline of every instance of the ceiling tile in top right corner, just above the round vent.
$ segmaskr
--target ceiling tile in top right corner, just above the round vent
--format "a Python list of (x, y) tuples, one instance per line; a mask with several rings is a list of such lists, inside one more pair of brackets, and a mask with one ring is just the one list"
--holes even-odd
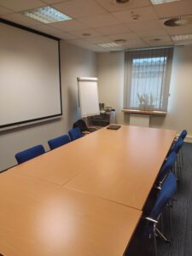
[(192, 15), (192, 1), (182, 0), (173, 3), (158, 4), (154, 5), (154, 9), (160, 18)]

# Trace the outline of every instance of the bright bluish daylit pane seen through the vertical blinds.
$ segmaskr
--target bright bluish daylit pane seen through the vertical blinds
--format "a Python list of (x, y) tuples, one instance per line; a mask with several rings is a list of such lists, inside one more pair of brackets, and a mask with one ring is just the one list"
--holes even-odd
[[(162, 108), (162, 84), (166, 79), (166, 57), (133, 59), (131, 68), (131, 107)], [(143, 96), (143, 102), (140, 97)]]

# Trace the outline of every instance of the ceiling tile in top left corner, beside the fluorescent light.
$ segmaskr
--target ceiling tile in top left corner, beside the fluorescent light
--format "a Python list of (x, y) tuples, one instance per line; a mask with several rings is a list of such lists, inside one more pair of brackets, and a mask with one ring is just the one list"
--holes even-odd
[(13, 11), (22, 11), (25, 9), (33, 9), (44, 6), (45, 4), (38, 0), (1, 0), (0, 5), (1, 7), (5, 7)]

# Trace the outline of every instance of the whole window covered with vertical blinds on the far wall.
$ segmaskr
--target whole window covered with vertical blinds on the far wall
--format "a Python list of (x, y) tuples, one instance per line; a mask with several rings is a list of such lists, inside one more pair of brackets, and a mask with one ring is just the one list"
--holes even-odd
[(125, 108), (166, 111), (172, 48), (125, 53)]

